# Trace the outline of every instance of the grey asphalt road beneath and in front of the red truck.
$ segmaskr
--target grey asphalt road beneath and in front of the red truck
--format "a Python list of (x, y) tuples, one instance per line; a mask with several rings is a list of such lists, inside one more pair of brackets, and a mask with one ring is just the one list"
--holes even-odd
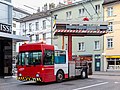
[(88, 79), (64, 81), (62, 83), (7, 82), (0, 90), (120, 90), (120, 76), (92, 75)]

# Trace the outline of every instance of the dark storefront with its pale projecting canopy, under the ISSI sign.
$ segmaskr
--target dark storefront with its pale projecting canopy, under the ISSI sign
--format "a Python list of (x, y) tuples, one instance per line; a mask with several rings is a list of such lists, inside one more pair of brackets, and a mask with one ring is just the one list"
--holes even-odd
[(28, 37), (0, 32), (0, 78), (12, 76), (13, 41), (26, 41)]

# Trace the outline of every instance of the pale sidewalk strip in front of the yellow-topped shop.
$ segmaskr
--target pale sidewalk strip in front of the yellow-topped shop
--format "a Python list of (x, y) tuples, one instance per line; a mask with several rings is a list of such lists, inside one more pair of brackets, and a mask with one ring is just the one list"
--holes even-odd
[(104, 76), (120, 76), (120, 71), (107, 71), (107, 72), (94, 72), (93, 75), (104, 75)]

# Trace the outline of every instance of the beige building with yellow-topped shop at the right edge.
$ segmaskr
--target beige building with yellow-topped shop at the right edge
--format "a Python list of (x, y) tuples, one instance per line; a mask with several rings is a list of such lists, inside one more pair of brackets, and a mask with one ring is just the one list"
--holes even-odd
[(105, 0), (104, 21), (108, 22), (108, 33), (104, 36), (104, 71), (120, 70), (120, 1)]

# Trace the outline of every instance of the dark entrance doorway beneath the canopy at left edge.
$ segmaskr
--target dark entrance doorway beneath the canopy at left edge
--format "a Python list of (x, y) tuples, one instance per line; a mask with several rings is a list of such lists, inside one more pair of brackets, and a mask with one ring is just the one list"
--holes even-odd
[(0, 77), (12, 76), (12, 39), (0, 38)]

